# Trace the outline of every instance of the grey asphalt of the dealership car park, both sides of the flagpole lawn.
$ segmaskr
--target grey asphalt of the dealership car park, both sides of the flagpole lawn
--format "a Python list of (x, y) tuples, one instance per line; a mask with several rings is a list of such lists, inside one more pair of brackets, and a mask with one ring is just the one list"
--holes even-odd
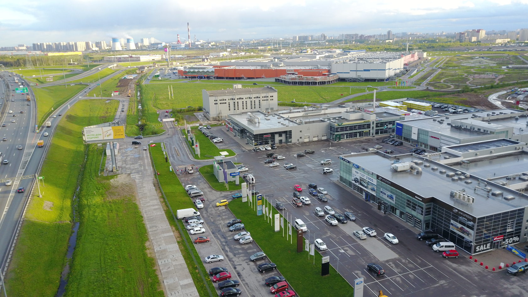
[[(441, 253), (435, 253), (425, 242), (416, 239), (418, 230), (413, 229), (406, 222), (392, 215), (384, 215), (377, 210), (376, 205), (359, 198), (359, 195), (350, 189), (342, 187), (337, 182), (339, 167), (337, 157), (342, 154), (364, 152), (365, 148), (376, 144), (382, 145), (381, 151), (390, 149), (398, 153), (407, 153), (412, 147), (408, 145), (394, 147), (381, 143), (384, 137), (369, 137), (356, 141), (329, 143), (320, 141), (308, 144), (280, 145), (277, 150), (252, 152), (240, 147), (233, 136), (225, 133), (223, 127), (213, 127), (215, 133), (224, 138), (219, 147), (234, 148), (238, 153), (235, 162), (240, 162), (249, 168), (249, 173), (256, 178), (254, 189), (258, 190), (275, 205), (281, 202), (285, 209), (281, 211), (284, 217), (293, 222), (296, 218), (302, 219), (307, 225), (308, 231), (305, 238), (313, 243), (320, 238), (327, 246), (327, 250), (319, 251), (323, 256), (330, 256), (331, 265), (343, 275), (349, 282), (353, 283), (358, 277), (365, 278), (365, 295), (377, 295), (379, 290), (389, 296), (422, 296), (449, 293), (456, 296), (495, 296), (510, 292), (514, 295), (523, 295), (518, 287), (509, 286), (510, 278), (504, 271), (498, 273), (485, 272), (474, 267), (474, 264), (463, 255), (459, 258), (443, 258)], [(304, 157), (295, 157), (305, 149), (316, 151)], [(285, 157), (285, 160), (277, 161), (280, 165), (270, 168), (264, 161), (268, 159), (266, 152), (273, 152)], [(321, 165), (320, 161), (331, 159), (332, 163)], [(297, 169), (286, 170), (283, 165), (291, 163)], [(322, 169), (328, 167), (334, 173), (323, 174)], [(228, 209), (215, 207), (214, 203), (221, 199), (231, 200), (233, 192), (216, 192), (209, 188), (200, 175), (184, 175), (182, 182), (186, 184), (198, 184), (204, 191), (206, 197), (203, 212), (206, 221), (205, 236), (214, 238), (214, 242), (197, 246), (200, 256), (203, 258), (209, 254), (221, 253), (226, 259), (223, 262), (205, 264), (206, 268), (214, 266), (227, 267), (233, 274), (233, 279), (240, 280), (242, 295), (247, 296), (269, 296), (268, 287), (263, 280), (271, 275), (279, 275), (267, 272), (265, 274), (257, 271), (257, 265), (266, 261), (249, 261), (249, 256), (260, 251), (257, 244), (249, 243), (241, 245), (233, 236), (225, 223), (233, 218)], [(308, 184), (316, 183), (317, 187), (323, 187), (328, 194), (328, 201), (321, 202), (308, 193)], [(310, 205), (296, 207), (292, 202), (294, 185), (299, 184), (302, 188), (301, 196), (310, 197)], [(351, 211), (356, 216), (356, 221), (348, 221), (346, 224), (336, 226), (329, 225), (324, 219), (314, 215), (315, 207), (323, 208), (331, 206), (336, 212), (344, 214)], [(355, 230), (363, 227), (372, 227), (377, 235), (361, 240), (353, 235)], [(391, 244), (384, 239), (384, 233), (392, 233), (398, 237), (398, 244)], [(310, 260), (311, 261), (311, 260)], [(229, 263), (229, 264), (228, 264)], [(367, 263), (380, 264), (385, 275), (374, 276), (366, 269)], [(277, 263), (277, 270), (280, 272)], [(320, 264), (315, 264), (320, 265)], [(468, 271), (470, 269), (470, 272)], [(235, 276), (236, 275), (236, 276)], [(522, 276), (520, 276), (522, 277)], [(485, 293), (483, 293), (486, 288)], [(295, 288), (294, 288), (295, 290)], [(478, 293), (477, 293), (478, 292)]]

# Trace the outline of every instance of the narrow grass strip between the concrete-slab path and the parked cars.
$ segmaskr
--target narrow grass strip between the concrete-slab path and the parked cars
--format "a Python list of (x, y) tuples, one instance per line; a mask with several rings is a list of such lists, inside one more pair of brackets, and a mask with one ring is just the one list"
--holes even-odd
[(196, 206), (187, 195), (187, 192), (183, 188), (183, 185), (176, 174), (169, 170), (170, 163), (165, 162), (161, 145), (156, 143), (156, 146), (149, 146), (149, 152), (152, 157), (154, 168), (159, 173), (156, 175), (156, 178), (165, 198), (165, 215), (167, 216), (169, 223), (177, 229), (178, 233), (180, 233), (180, 236), (177, 237), (176, 240), (182, 256), (185, 259), (185, 264), (191, 273), (196, 290), (201, 297), (211, 296), (211, 292), (214, 292), (213, 294), (215, 294), (216, 289), (210, 281), (208, 271), (203, 266), (202, 259), (198, 255), (192, 242), (195, 236), (190, 236), (187, 231), (183, 231), (185, 230), (183, 222), (181, 220), (176, 222), (174, 219), (174, 213), (177, 209), (195, 208)]

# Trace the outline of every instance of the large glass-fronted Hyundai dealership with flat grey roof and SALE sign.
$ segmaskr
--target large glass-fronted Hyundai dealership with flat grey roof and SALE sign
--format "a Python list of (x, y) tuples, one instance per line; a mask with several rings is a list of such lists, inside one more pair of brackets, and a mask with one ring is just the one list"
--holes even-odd
[(470, 254), (526, 242), (528, 148), (505, 138), (425, 156), (340, 156), (339, 181), (378, 210)]

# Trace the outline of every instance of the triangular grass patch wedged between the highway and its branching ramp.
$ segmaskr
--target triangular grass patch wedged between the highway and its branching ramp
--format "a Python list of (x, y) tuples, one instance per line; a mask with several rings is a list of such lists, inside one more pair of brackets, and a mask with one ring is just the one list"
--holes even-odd
[(32, 88), (37, 104), (37, 126), (40, 127), (44, 124), (55, 109), (70, 100), (84, 88), (86, 88), (86, 86), (80, 85)]

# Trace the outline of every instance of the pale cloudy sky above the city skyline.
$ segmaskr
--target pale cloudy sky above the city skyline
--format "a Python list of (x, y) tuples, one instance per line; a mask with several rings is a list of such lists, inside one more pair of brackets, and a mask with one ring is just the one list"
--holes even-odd
[[(414, 4), (416, 6), (411, 6)], [(0, 47), (111, 37), (244, 40), (325, 33), (516, 30), (528, 0), (0, 0)]]

